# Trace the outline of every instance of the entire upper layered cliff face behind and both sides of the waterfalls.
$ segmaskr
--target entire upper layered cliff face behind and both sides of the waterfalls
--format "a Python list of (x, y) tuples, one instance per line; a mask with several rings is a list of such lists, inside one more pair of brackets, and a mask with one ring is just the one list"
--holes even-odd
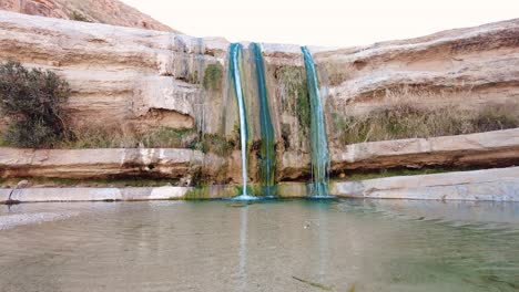
[[(70, 82), (69, 108), (77, 124), (118, 125), (129, 131), (167, 126), (226, 138), (236, 135), (236, 101), (227, 79), (230, 43), (224, 39), (0, 12), (0, 60), (51, 69)], [(248, 43), (243, 45), (250, 176), (257, 181), (260, 102), (253, 55)], [(309, 49), (337, 174), (350, 163), (363, 168), (362, 163), (345, 158), (353, 148), (340, 138), (348, 126), (344, 117), (355, 121), (409, 101), (420, 108), (467, 111), (519, 105), (519, 20), (364, 48)], [(309, 108), (303, 54), (296, 45), (262, 44), (262, 50), (277, 180), (305, 180), (309, 176)]]

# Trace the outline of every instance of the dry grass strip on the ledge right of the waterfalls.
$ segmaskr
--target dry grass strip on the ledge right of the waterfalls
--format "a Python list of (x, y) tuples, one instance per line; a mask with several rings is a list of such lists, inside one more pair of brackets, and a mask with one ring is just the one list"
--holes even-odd
[(517, 104), (424, 106), (416, 93), (389, 92), (386, 105), (364, 115), (333, 115), (342, 144), (464, 135), (519, 127)]

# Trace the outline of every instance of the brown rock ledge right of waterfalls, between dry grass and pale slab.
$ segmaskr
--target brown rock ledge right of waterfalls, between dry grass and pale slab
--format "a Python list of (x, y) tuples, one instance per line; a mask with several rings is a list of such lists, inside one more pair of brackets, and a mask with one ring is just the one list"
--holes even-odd
[[(332, 170), (519, 165), (519, 128), (458, 136), (369, 142), (332, 154)], [(345, 171), (347, 173), (347, 171)]]

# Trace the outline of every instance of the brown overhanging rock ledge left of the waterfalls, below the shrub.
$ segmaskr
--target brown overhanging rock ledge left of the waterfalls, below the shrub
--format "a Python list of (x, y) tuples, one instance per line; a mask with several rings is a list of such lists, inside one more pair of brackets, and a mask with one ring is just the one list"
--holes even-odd
[[(207, 179), (227, 161), (191, 149), (17, 149), (0, 148), (0, 177)], [(213, 177), (212, 177), (213, 176)]]

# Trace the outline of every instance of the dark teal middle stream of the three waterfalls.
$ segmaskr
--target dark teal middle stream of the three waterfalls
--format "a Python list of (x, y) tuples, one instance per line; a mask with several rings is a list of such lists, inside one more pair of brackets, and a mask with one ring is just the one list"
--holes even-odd
[(262, 48), (257, 43), (251, 44), (256, 67), (257, 93), (260, 98), (260, 126), (262, 144), (260, 148), (260, 171), (263, 195), (272, 197), (275, 186), (276, 150), (274, 126), (272, 125), (268, 94), (265, 82), (265, 65), (263, 63)]

